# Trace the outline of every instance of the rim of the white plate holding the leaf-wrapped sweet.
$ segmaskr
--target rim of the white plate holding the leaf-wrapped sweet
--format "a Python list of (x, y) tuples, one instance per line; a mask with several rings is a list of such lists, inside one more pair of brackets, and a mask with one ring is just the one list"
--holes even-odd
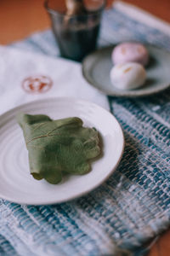
[[(31, 104), (33, 103), (38, 103), (38, 102), (52, 102), (52, 101), (57, 101), (57, 100), (65, 100), (65, 101), (68, 101), (68, 100), (71, 100), (73, 102), (85, 102), (86, 104), (87, 103), (90, 103), (90, 104), (93, 104), (94, 106), (96, 106), (97, 108), (101, 108), (102, 111), (104, 111), (105, 113), (111, 115), (111, 118), (115, 119), (116, 121), (116, 124), (118, 125), (119, 127), (119, 130), (121, 132), (121, 139), (122, 139), (122, 149), (121, 149), (121, 154), (119, 155), (119, 158), (118, 160), (116, 161), (116, 165), (112, 167), (111, 171), (105, 176), (105, 178), (103, 178), (99, 183), (95, 183), (94, 186), (90, 189), (87, 189), (85, 191), (83, 191), (82, 193), (79, 193), (78, 195), (72, 195), (70, 196), (69, 198), (67, 198), (66, 200), (44, 200), (43, 202), (38, 202), (38, 201), (24, 201), (22, 199), (20, 200), (13, 200), (13, 199), (10, 199), (10, 197), (8, 196), (2, 196), (1, 195), (1, 191), (0, 191), (0, 198), (2, 198), (3, 200), (7, 200), (7, 201), (10, 201), (10, 202), (14, 202), (14, 203), (18, 203), (18, 204), (21, 204), (21, 205), (34, 205), (34, 206), (40, 206), (40, 205), (53, 205), (53, 204), (59, 204), (59, 203), (63, 203), (63, 202), (68, 202), (68, 201), (72, 201), (72, 200), (76, 200), (77, 198), (83, 196), (83, 195), (87, 195), (89, 192), (92, 192), (94, 191), (94, 189), (97, 189), (102, 183), (105, 183), (105, 181), (111, 177), (112, 173), (116, 171), (116, 168), (117, 166), (119, 165), (120, 161), (122, 160), (122, 154), (124, 153), (124, 148), (125, 148), (125, 137), (124, 137), (124, 134), (123, 134), (123, 131), (122, 131), (122, 126), (120, 125), (120, 123), (118, 122), (118, 120), (116, 119), (116, 117), (108, 110), (106, 110), (105, 108), (102, 108), (101, 106), (99, 106), (98, 104), (94, 103), (94, 102), (88, 102), (87, 100), (82, 100), (82, 99), (77, 99), (76, 97), (66, 97), (66, 96), (59, 96), (59, 97), (48, 97), (48, 98), (43, 98), (41, 100), (35, 100), (35, 101), (31, 101), (31, 102), (26, 102), (24, 104), (20, 104), (19, 106), (17, 107), (14, 107), (14, 108), (11, 108), (9, 109), (8, 111), (4, 112), (3, 114), (0, 115), (0, 119), (2, 119), (3, 117), (5, 118), (6, 115), (8, 114), (13, 114), (15, 111), (17, 110), (20, 110), (20, 108), (24, 108), (26, 106), (30, 106)], [(8, 119), (11, 119), (11, 116), (8, 118)], [(8, 119), (5, 120), (5, 123), (8, 122)], [(3, 122), (4, 123), (4, 122)], [(3, 125), (0, 125), (0, 128), (3, 127)]]

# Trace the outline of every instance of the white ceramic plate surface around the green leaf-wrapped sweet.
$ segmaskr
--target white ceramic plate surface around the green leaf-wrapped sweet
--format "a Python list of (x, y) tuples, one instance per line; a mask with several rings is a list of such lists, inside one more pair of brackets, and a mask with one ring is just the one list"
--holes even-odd
[[(83, 176), (65, 177), (53, 185), (34, 179), (16, 113), (43, 113), (52, 119), (77, 116), (84, 125), (95, 127), (103, 140), (103, 156), (93, 161), (92, 171)], [(103, 183), (122, 158), (124, 139), (116, 118), (92, 102), (54, 98), (27, 103), (0, 116), (0, 197), (20, 204), (54, 204), (84, 195)]]

